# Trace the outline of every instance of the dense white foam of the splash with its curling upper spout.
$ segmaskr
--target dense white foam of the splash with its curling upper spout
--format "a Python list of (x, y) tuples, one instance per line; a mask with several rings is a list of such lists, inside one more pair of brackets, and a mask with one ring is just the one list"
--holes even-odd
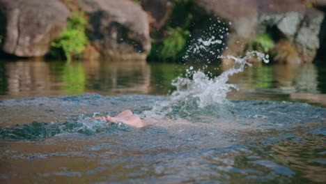
[[(193, 74), (192, 78), (178, 77), (173, 86), (176, 86), (176, 91), (172, 93), (172, 101), (187, 100), (189, 98), (198, 98), (197, 105), (205, 107), (214, 103), (223, 103), (226, 100), (226, 95), (232, 89), (239, 90), (235, 84), (228, 84), (228, 77), (242, 72), (245, 66), (251, 66), (247, 60), (256, 55), (258, 60), (268, 62), (267, 56), (260, 52), (247, 52), (243, 57), (235, 56), (219, 56), (219, 58), (227, 58), (233, 60), (233, 67), (224, 71), (218, 77), (210, 78), (201, 70), (195, 72), (188, 71)], [(189, 76), (189, 75), (187, 75)]]

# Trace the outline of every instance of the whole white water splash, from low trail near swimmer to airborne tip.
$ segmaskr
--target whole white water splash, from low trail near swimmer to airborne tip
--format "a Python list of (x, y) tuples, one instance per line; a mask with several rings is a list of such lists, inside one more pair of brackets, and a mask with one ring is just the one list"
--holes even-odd
[[(226, 105), (226, 95), (233, 89), (239, 90), (236, 84), (228, 84), (228, 78), (235, 73), (242, 72), (246, 66), (251, 66), (248, 62), (251, 57), (256, 56), (258, 61), (268, 63), (268, 55), (261, 52), (247, 52), (245, 56), (219, 56), (233, 60), (233, 66), (224, 71), (218, 77), (209, 77), (202, 70), (187, 70), (186, 77), (177, 77), (173, 81), (176, 91), (171, 94), (169, 102), (160, 102), (156, 104), (151, 111), (145, 112), (146, 116), (163, 118), (166, 114), (173, 112), (177, 107), (179, 114), (186, 113), (187, 109), (196, 109), (208, 107), (210, 105)], [(206, 109), (207, 110), (207, 109)]]

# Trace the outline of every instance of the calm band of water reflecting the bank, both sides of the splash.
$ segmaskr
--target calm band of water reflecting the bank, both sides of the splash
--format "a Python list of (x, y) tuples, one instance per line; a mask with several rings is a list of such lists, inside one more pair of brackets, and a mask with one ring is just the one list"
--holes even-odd
[[(171, 81), (194, 64), (146, 61), (1, 61), (0, 99), (81, 93), (166, 95)], [(219, 75), (228, 66), (212, 64)], [(326, 67), (313, 64), (255, 64), (234, 75), (230, 83), (240, 86), (229, 98), (298, 100), (326, 105)]]

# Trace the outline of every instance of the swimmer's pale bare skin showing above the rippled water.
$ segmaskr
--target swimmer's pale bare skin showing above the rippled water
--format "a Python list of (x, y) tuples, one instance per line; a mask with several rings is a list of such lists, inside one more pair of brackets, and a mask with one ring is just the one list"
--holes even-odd
[(102, 119), (104, 121), (113, 121), (116, 123), (120, 121), (127, 125), (131, 125), (135, 128), (143, 128), (149, 125), (148, 123), (143, 123), (143, 121), (141, 121), (141, 118), (139, 118), (139, 116), (135, 116), (134, 114), (132, 114), (130, 110), (125, 110), (115, 117), (101, 116), (101, 117), (96, 117), (96, 119)]

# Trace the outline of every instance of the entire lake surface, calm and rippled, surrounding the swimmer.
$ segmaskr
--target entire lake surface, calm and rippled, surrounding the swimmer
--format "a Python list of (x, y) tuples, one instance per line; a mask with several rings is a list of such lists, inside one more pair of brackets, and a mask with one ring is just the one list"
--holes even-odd
[[(227, 98), (201, 75), (171, 84), (190, 68), (202, 66), (1, 61), (0, 183), (326, 182), (325, 66), (244, 66)], [(93, 118), (124, 109), (153, 125)]]

